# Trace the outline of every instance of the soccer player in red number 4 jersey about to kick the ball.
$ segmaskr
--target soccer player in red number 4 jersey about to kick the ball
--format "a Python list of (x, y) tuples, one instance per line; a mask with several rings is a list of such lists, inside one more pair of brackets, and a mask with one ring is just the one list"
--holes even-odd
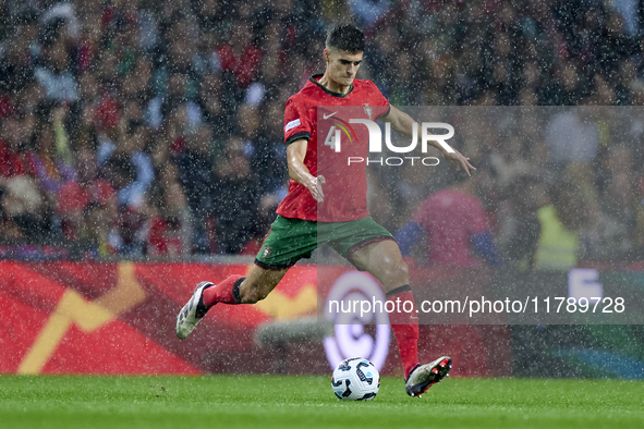
[[(287, 101), (284, 143), (291, 181), (288, 195), (277, 208), (277, 220), (245, 278), (231, 275), (219, 284), (206, 281), (197, 285), (177, 317), (180, 339), (187, 338), (206, 311), (218, 303), (253, 304), (264, 299), (290, 267), (309, 257), (320, 244), (329, 244), (359, 270), (378, 279), (387, 301), (413, 303), (408, 267), (397, 242), (368, 214), (364, 163), (347, 167), (345, 162), (331, 159), (318, 164), (335, 151), (325, 145), (318, 147), (318, 138), (323, 140), (324, 135), (317, 131), (317, 107), (357, 107), (354, 109), (365, 118), (379, 118), (394, 131), (412, 136), (412, 118), (389, 106), (373, 82), (355, 78), (363, 52), (364, 35), (359, 28), (339, 25), (329, 32), (323, 52), (327, 63), (325, 73), (313, 75)], [(331, 110), (323, 118), (336, 113)], [(433, 144), (457, 170), (462, 168), (467, 174), (474, 170), (469, 158), (459, 151), (450, 152)], [(352, 145), (344, 146), (349, 154), (366, 157), (368, 138), (356, 138)], [(415, 307), (411, 312), (391, 312), (389, 320), (402, 360), (405, 390), (410, 396), (421, 396), (448, 375), (451, 358), (442, 356), (429, 364), (418, 364)]]

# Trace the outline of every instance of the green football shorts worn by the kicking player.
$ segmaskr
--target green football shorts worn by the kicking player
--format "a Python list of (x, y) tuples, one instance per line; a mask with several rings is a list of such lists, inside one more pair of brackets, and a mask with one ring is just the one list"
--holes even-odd
[(394, 238), (370, 216), (348, 222), (316, 222), (278, 214), (255, 263), (272, 270), (289, 268), (301, 258), (311, 258), (313, 250), (323, 244), (328, 244), (353, 263), (353, 252), (382, 240)]

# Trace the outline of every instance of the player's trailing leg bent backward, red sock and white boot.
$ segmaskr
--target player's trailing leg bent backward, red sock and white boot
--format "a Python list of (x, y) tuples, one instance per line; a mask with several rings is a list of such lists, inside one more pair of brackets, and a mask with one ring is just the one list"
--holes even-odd
[(230, 275), (214, 284), (202, 282), (177, 316), (177, 336), (186, 339), (206, 312), (217, 303), (254, 304), (264, 299), (277, 286), (288, 268), (268, 270), (253, 266), (246, 277)]

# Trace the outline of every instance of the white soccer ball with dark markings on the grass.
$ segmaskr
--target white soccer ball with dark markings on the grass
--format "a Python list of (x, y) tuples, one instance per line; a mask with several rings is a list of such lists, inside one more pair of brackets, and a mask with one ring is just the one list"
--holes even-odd
[(352, 357), (342, 360), (333, 370), (331, 387), (340, 400), (370, 401), (380, 389), (380, 375), (367, 359)]

